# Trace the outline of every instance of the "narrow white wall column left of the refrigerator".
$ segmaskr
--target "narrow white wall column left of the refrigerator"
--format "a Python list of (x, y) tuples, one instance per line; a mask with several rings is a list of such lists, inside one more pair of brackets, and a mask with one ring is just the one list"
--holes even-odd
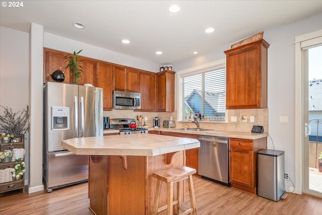
[(43, 163), (43, 26), (31, 23), (29, 30), (29, 193), (42, 191)]

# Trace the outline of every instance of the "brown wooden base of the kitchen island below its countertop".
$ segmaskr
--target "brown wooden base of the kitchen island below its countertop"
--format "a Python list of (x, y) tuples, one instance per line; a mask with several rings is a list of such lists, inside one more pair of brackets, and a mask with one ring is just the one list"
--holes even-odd
[[(183, 165), (183, 155), (183, 151), (177, 152), (169, 165), (166, 155), (126, 156), (123, 159), (127, 161), (127, 169), (120, 156), (90, 156), (90, 209), (94, 214), (152, 214), (157, 181), (152, 173)], [(160, 205), (165, 205), (165, 184), (161, 192)]]

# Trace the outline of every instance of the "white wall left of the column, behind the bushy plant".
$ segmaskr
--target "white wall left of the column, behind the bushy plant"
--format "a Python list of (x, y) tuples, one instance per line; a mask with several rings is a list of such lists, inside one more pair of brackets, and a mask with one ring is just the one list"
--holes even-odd
[[(0, 26), (0, 105), (18, 112), (29, 104), (29, 34)], [(3, 108), (0, 108), (3, 114)], [(0, 131), (1, 132), (1, 131)], [(25, 135), (26, 184), (29, 177), (29, 135)]]

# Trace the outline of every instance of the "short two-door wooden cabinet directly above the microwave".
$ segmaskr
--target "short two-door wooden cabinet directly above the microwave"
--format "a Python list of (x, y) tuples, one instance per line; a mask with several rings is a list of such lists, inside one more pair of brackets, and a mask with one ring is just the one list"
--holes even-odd
[(113, 90), (139, 92), (139, 70), (113, 65)]

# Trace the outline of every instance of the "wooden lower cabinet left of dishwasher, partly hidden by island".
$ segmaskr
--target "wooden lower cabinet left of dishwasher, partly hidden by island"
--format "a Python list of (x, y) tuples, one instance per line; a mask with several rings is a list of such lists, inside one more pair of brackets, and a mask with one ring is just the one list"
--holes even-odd
[[(178, 137), (186, 137), (186, 138), (194, 138), (198, 139), (199, 135), (197, 134), (189, 134), (189, 133), (176, 133), (176, 132), (167, 132), (167, 131), (159, 131), (160, 135), (167, 136), (178, 136)], [(191, 167), (197, 171), (198, 174), (198, 152), (199, 148), (186, 150), (186, 166)]]

